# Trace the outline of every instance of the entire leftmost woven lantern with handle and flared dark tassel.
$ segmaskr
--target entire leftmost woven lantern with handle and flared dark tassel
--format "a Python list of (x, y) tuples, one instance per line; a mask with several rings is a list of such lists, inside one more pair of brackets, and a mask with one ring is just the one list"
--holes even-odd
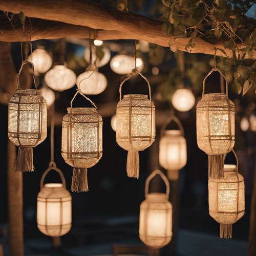
[(15, 172), (34, 170), (32, 148), (44, 141), (47, 136), (47, 103), (42, 97), (42, 91), (20, 89), (19, 75), (27, 63), (33, 68), (33, 64), (28, 60), (22, 63), (18, 73), (17, 89), (8, 105), (8, 138), (19, 146), (13, 166)]

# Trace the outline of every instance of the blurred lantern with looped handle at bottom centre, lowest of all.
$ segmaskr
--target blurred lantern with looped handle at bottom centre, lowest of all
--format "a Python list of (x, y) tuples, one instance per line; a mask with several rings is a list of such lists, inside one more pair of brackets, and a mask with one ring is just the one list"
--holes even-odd
[[(148, 186), (157, 174), (166, 184), (166, 193), (148, 194)], [(152, 248), (161, 248), (172, 239), (173, 207), (168, 201), (169, 182), (160, 170), (155, 170), (148, 176), (145, 185), (145, 200), (140, 205), (140, 240)]]

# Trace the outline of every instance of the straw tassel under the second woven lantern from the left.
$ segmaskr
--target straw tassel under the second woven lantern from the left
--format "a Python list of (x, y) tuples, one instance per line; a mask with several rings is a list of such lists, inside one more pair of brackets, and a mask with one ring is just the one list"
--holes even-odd
[(87, 168), (74, 168), (72, 176), (71, 191), (72, 192), (87, 192)]

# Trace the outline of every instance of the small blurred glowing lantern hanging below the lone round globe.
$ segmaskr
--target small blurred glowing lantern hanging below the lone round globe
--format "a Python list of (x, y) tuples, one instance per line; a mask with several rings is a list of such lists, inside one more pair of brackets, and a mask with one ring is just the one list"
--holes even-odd
[[(179, 130), (165, 130), (168, 123), (175, 121)], [(172, 115), (162, 126), (159, 143), (159, 163), (167, 170), (170, 180), (179, 179), (179, 170), (187, 162), (187, 145), (180, 120)]]

